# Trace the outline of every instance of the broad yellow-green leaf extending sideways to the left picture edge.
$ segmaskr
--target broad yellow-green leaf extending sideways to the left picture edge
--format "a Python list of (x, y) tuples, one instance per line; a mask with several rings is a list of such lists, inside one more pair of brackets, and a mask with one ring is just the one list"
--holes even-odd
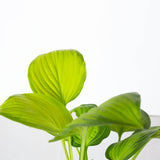
[(72, 116), (63, 103), (34, 93), (9, 97), (0, 106), (0, 115), (54, 136), (72, 121)]

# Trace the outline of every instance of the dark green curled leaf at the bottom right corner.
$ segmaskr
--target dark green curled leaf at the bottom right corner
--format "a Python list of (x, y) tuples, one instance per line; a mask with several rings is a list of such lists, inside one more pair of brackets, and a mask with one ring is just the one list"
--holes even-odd
[(110, 145), (106, 150), (106, 158), (110, 160), (128, 160), (134, 154), (139, 153), (152, 139), (160, 138), (160, 127), (141, 130), (130, 137)]

